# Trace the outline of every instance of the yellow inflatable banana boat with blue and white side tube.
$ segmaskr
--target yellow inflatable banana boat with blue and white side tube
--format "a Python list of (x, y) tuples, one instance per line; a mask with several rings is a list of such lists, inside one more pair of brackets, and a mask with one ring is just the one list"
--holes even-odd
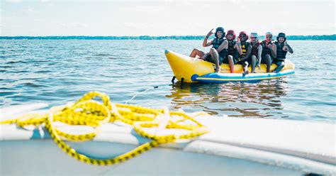
[[(258, 82), (263, 79), (274, 79), (283, 77), (294, 73), (295, 65), (290, 60), (285, 60), (285, 67), (281, 72), (272, 73), (266, 72), (266, 65), (260, 65), (260, 70), (255, 69), (254, 74), (242, 75), (242, 65), (235, 65), (235, 73), (230, 73), (230, 67), (228, 64), (220, 65), (221, 72), (215, 73), (215, 65), (211, 62), (174, 53), (169, 50), (165, 50), (167, 60), (174, 76), (184, 82)], [(271, 65), (271, 71), (276, 68), (275, 64)], [(249, 67), (251, 72), (251, 67)]]

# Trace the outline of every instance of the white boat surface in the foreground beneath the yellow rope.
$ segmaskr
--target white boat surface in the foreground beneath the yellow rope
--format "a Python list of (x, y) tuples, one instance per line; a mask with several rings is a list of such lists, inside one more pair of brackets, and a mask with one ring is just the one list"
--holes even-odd
[[(24, 107), (21, 113), (36, 108)], [(1, 110), (1, 120), (16, 116), (8, 110)], [(1, 175), (336, 175), (335, 123), (213, 116), (198, 121), (211, 133), (194, 141), (159, 145), (111, 166), (87, 165), (69, 157), (43, 128), (28, 131), (1, 125)], [(69, 133), (89, 130), (55, 125)], [(108, 123), (93, 141), (69, 144), (94, 158), (111, 158), (147, 141), (131, 126)]]

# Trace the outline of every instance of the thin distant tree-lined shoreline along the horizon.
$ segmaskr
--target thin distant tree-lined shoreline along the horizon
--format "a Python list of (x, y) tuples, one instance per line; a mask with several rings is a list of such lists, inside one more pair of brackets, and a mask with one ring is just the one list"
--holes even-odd
[[(264, 36), (259, 36), (260, 39)], [(8, 40), (203, 40), (204, 35), (170, 35), (170, 36), (0, 36), (0, 39)], [(274, 40), (276, 37), (274, 36)], [(288, 40), (336, 40), (333, 35), (288, 35)]]

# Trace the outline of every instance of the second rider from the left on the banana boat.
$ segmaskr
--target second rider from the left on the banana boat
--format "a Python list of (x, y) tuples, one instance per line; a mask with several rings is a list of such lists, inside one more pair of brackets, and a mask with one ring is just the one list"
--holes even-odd
[(235, 71), (235, 62), (238, 59), (238, 56), (242, 54), (242, 49), (238, 46), (235, 40), (235, 31), (229, 30), (228, 33), (226, 33), (225, 38), (228, 40), (228, 53), (223, 62), (229, 64), (230, 71), (233, 73)]

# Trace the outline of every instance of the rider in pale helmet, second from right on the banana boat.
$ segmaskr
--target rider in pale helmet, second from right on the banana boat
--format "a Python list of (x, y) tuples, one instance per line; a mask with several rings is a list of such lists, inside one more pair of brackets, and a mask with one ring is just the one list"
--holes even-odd
[(262, 64), (267, 65), (267, 72), (270, 72), (271, 62), (276, 57), (276, 46), (272, 42), (273, 34), (267, 32), (265, 40), (262, 41)]

